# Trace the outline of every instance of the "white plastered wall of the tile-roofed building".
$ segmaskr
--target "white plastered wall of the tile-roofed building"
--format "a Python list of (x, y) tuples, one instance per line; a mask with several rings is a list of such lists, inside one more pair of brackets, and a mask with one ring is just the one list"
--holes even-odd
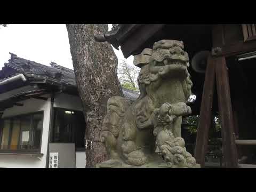
[[(36, 111), (44, 111), (43, 133), (41, 143), (41, 153), (44, 155), (40, 158), (20, 155), (0, 155), (0, 167), (43, 168), (46, 166), (48, 135), (50, 126), (51, 98), (50, 95), (44, 95), (43, 97), (47, 97), (48, 100), (44, 101), (38, 99), (29, 99), (26, 101), (19, 102), (23, 103), (23, 106), (14, 106), (12, 108), (5, 109), (2, 118), (34, 113)], [(54, 107), (78, 111), (83, 110), (82, 102), (79, 97), (65, 93), (55, 95)], [(85, 151), (76, 151), (77, 167), (85, 167), (85, 159)]]

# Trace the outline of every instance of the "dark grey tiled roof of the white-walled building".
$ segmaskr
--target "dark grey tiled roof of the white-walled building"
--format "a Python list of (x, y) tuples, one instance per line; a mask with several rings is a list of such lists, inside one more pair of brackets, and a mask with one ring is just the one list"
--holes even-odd
[[(10, 79), (12, 76), (23, 74), (30, 84), (45, 83), (65, 87), (69, 90), (75, 88), (76, 90), (74, 70), (62, 67), (54, 62), (50, 63), (51, 66), (46, 66), (35, 61), (19, 58), (13, 53), (10, 54), (11, 59), (8, 63), (4, 63), (4, 67), (0, 70), (0, 85), (1, 82), (7, 81), (7, 79)], [(4, 92), (8, 87), (2, 87), (0, 93)], [(122, 89), (124, 97), (126, 98), (136, 100), (139, 97), (139, 93), (137, 91), (129, 90), (124, 87)]]

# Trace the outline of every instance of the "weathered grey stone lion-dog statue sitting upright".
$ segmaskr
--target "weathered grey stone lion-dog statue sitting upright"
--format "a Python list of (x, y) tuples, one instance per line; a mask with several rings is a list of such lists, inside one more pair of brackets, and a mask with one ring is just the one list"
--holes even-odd
[[(139, 98), (131, 104), (122, 97), (108, 100), (101, 140), (110, 159), (129, 165), (155, 161), (158, 147), (169, 167), (198, 167), (181, 138), (182, 115), (191, 113), (186, 101), (191, 94), (183, 42), (162, 40), (135, 55)], [(163, 161), (164, 162), (164, 161)]]

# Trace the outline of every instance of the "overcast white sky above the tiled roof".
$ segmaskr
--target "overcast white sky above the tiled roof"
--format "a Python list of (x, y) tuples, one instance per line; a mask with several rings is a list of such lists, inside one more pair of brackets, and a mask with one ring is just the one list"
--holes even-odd
[[(111, 25), (109, 24), (109, 29)], [(114, 49), (114, 47), (113, 47)], [(133, 65), (133, 56), (125, 59), (114, 49), (118, 63), (126, 60)], [(10, 54), (49, 66), (53, 61), (73, 69), (68, 32), (65, 24), (11, 24), (0, 28), (0, 70)]]

